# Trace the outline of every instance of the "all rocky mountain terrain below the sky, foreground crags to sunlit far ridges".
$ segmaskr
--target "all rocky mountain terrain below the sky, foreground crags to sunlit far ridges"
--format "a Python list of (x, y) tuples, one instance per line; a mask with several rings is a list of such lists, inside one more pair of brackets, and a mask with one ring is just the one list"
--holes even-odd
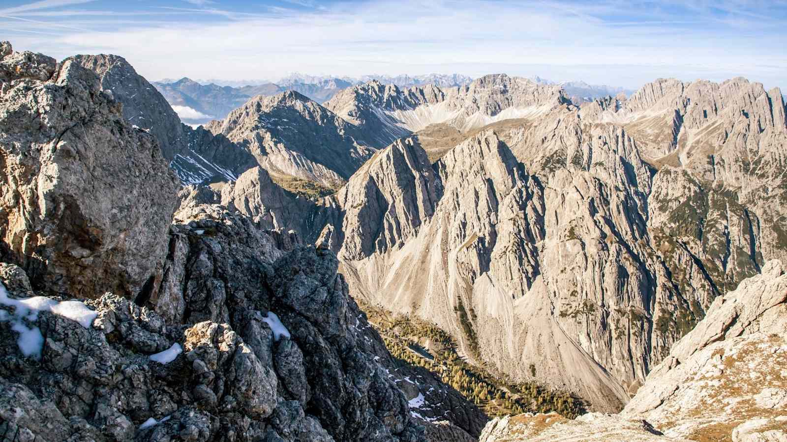
[(194, 129), (122, 57), (0, 55), (0, 326), (46, 332), (0, 341), (13, 432), (787, 437), (776, 88), (157, 85), (235, 106)]

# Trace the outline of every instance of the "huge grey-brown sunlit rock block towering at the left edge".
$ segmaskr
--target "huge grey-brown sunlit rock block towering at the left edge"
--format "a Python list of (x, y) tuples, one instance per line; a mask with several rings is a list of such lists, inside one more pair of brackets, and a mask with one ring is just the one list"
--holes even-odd
[(36, 289), (97, 297), (161, 278), (178, 181), (98, 77), (2, 43), (2, 259)]

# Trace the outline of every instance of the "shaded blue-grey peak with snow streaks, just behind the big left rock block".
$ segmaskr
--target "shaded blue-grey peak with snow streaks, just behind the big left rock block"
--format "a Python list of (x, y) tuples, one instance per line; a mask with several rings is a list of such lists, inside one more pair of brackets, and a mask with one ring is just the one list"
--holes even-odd
[(184, 184), (211, 180), (235, 181), (257, 163), (244, 149), (205, 129), (192, 129), (131, 64), (116, 55), (77, 55), (70, 59), (98, 74), (102, 90), (123, 104), (123, 116), (149, 131), (161, 145), (170, 168)]

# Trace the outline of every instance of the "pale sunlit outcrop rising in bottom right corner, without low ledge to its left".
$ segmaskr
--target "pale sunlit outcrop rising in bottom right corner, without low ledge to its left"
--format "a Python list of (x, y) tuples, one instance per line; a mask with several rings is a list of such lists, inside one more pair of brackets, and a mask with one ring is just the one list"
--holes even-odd
[(781, 440), (787, 438), (785, 363), (787, 274), (772, 260), (762, 274), (713, 301), (623, 414), (693, 440)]

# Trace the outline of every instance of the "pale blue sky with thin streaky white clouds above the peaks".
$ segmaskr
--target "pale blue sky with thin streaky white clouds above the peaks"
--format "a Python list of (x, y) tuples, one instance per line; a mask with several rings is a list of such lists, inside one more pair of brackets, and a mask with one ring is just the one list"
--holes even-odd
[(0, 0), (0, 39), (58, 60), (115, 53), (149, 80), (505, 72), (787, 90), (787, 0)]

